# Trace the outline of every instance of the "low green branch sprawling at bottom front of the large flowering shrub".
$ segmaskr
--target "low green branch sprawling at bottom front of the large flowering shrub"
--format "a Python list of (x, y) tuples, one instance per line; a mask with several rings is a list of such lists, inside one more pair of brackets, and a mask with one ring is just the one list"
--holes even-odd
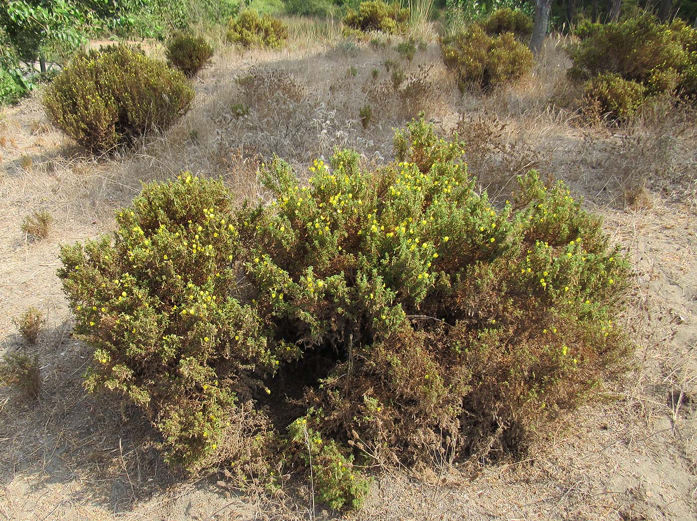
[(321, 433), (298, 418), (288, 427), (291, 450), (312, 474), (316, 496), (330, 508), (358, 510), (367, 495), (369, 481), (353, 468), (353, 455), (346, 456), (334, 440), (326, 442)]

